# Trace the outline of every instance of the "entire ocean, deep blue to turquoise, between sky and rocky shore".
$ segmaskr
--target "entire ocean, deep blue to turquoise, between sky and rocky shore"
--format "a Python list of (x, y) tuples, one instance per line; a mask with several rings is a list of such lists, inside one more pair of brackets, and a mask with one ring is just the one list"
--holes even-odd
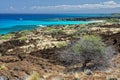
[(110, 14), (0, 14), (0, 34), (31, 30), (44, 25), (88, 24), (90, 21), (60, 21), (59, 18), (105, 17)]

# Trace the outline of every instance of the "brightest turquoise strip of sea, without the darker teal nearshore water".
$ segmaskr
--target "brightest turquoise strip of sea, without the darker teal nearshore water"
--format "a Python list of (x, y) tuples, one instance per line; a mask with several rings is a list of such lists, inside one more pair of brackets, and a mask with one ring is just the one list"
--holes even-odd
[(64, 25), (64, 24), (86, 24), (90, 21), (31, 21), (31, 20), (2, 20), (1, 28), (11, 28), (17, 25)]

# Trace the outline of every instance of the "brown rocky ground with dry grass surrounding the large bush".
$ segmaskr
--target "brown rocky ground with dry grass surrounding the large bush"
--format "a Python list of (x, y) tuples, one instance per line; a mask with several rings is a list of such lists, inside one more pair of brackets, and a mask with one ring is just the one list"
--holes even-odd
[[(82, 20), (89, 20), (89, 18)], [(111, 58), (111, 63), (114, 65), (105, 70), (81, 71), (81, 63), (69, 65), (61, 62), (60, 53), (84, 35), (101, 36), (103, 42), (115, 50)], [(115, 41), (116, 43), (113, 44)], [(119, 60), (119, 23), (60, 25), (0, 36), (0, 80), (32, 80), (31, 76), (38, 75), (39, 80), (119, 80)], [(92, 63), (87, 64), (88, 67), (91, 65)]]

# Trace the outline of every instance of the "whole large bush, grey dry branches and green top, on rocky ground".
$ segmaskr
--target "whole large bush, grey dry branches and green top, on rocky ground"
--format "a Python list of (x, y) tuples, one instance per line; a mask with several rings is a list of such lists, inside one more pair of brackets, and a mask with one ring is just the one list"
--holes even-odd
[[(111, 46), (105, 46), (101, 38), (89, 36), (86, 40), (83, 38), (72, 44), (71, 47), (60, 51), (58, 59), (64, 66), (81, 63), (82, 67), (80, 68), (83, 71), (85, 69), (106, 70), (111, 65), (110, 60), (114, 53), (115, 50)], [(89, 63), (92, 65), (87, 66)]]

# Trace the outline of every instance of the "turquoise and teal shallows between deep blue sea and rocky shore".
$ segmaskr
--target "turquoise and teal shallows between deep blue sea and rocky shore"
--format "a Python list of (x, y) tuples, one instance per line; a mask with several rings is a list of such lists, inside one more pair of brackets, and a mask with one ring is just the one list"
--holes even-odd
[(0, 34), (31, 30), (47, 25), (88, 24), (90, 21), (30, 21), (30, 20), (2, 20), (0, 21)]

